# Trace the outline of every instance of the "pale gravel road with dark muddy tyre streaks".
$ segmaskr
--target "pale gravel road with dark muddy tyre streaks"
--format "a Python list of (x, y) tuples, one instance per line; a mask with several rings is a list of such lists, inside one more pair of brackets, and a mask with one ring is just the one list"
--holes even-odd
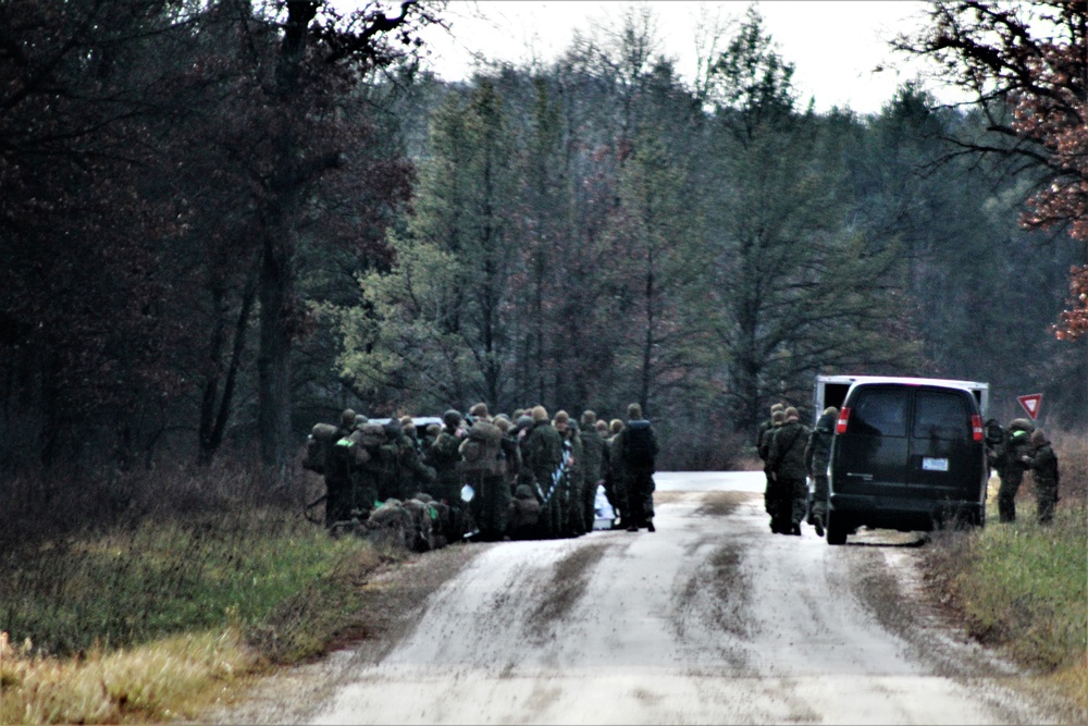
[(771, 534), (762, 476), (658, 475), (654, 533), (450, 547), (472, 556), (382, 648), (342, 650), (225, 719), (1054, 721), (925, 604), (920, 536)]

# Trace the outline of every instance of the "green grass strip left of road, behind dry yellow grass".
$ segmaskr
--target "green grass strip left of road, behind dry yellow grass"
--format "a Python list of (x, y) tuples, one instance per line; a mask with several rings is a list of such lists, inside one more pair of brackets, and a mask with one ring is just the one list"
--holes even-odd
[(274, 508), (145, 522), (5, 553), (0, 630), (47, 655), (226, 626), (267, 632), (285, 608), (343, 598), (337, 574), (378, 561), (368, 543)]

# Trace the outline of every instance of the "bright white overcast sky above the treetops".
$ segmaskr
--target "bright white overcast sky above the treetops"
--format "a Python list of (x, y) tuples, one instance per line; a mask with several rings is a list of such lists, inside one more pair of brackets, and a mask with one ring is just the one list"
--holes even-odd
[[(694, 75), (694, 28), (702, 5), (722, 21), (740, 21), (750, 2), (651, 0), (450, 0), (445, 14), (450, 33), (434, 28), (424, 39), (433, 70), (447, 81), (468, 77), (473, 53), (512, 62), (536, 57), (548, 61), (566, 50), (576, 30), (589, 35), (625, 5), (655, 10), (668, 54), (685, 77)], [(891, 99), (897, 86), (915, 78), (924, 66), (892, 53), (888, 40), (897, 32), (917, 28), (925, 2), (917, 0), (763, 0), (755, 3), (781, 56), (794, 63), (794, 83), (803, 104), (815, 98), (817, 111), (849, 106), (871, 113)], [(735, 27), (735, 26), (732, 26)], [(726, 37), (731, 34), (727, 30)], [(882, 69), (876, 71), (876, 69)], [(941, 100), (950, 90), (926, 84)]]

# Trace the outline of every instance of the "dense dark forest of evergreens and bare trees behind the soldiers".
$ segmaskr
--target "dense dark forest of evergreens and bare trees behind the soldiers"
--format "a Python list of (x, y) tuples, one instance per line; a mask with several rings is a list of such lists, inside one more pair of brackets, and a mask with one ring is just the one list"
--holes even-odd
[(0, 2), (0, 485), (283, 481), (343, 408), (477, 402), (639, 402), (663, 468), (717, 468), (818, 373), (1084, 432), (1086, 7), (1010, 7), (900, 41), (977, 103), (862, 115), (805, 106), (757, 8), (695, 82), (646, 8), (446, 83), (441, 2)]

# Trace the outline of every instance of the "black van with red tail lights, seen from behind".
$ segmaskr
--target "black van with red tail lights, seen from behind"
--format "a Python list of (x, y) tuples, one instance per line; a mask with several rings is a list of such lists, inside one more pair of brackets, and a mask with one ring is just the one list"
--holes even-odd
[(861, 526), (930, 531), (986, 521), (978, 402), (932, 379), (869, 380), (846, 392), (828, 467), (828, 544)]

